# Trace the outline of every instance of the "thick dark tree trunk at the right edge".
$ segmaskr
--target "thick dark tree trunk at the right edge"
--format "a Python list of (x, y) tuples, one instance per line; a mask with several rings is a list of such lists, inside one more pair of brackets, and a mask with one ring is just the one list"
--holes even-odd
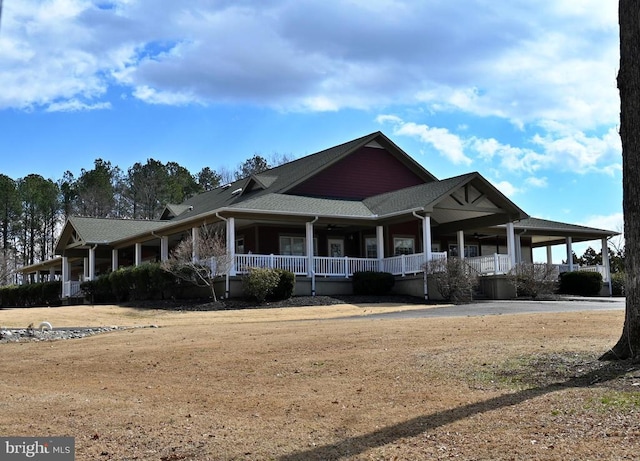
[(622, 336), (603, 360), (640, 358), (640, 3), (620, 0), (618, 21), (626, 311)]

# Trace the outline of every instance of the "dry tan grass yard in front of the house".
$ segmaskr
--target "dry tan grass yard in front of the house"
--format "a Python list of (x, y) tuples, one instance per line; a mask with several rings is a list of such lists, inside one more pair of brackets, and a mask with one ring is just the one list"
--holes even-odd
[(0, 311), (158, 327), (0, 344), (0, 433), (77, 460), (637, 459), (640, 368), (596, 360), (622, 312), (367, 318), (416, 307)]

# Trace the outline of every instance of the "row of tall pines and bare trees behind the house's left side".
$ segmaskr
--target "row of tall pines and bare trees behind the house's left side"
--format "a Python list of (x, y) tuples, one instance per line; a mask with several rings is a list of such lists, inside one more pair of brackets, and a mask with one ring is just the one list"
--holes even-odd
[(15, 268), (49, 259), (62, 224), (70, 216), (158, 219), (168, 203), (182, 203), (222, 184), (292, 160), (254, 154), (235, 170), (204, 167), (191, 173), (177, 162), (152, 158), (126, 171), (98, 158), (90, 170), (62, 178), (0, 173), (0, 285), (12, 283)]

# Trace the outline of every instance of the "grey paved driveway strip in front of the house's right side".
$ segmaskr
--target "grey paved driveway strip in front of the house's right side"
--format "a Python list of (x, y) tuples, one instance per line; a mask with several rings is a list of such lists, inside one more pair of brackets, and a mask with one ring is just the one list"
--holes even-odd
[[(593, 310), (624, 310), (624, 298), (564, 298), (554, 301), (479, 301), (458, 306), (429, 307), (403, 312), (371, 314), (371, 319), (467, 317), (502, 314), (535, 314)], [(362, 319), (362, 317), (358, 317)]]

